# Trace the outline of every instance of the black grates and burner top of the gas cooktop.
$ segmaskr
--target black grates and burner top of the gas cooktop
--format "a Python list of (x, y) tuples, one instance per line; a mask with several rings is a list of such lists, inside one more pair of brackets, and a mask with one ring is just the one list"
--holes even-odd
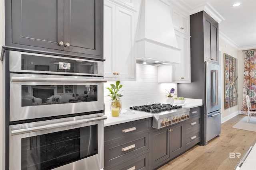
[(130, 109), (137, 110), (137, 111), (146, 111), (148, 113), (160, 113), (163, 111), (168, 111), (172, 109), (179, 109), (182, 106), (172, 106), (171, 104), (149, 104), (143, 106), (132, 106)]

